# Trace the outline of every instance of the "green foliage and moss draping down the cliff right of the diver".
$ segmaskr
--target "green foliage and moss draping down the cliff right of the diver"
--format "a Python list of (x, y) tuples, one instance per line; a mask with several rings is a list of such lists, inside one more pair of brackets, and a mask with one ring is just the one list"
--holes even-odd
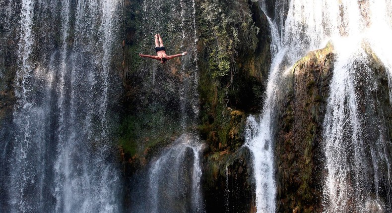
[(259, 28), (254, 23), (248, 0), (201, 0), (198, 11), (199, 45), (202, 45), (200, 130), (212, 150), (218, 146), (221, 150), (228, 147), (234, 150), (243, 141), (237, 135), (231, 138), (231, 131), (241, 134), (243, 129), (240, 124), (231, 123), (231, 110), (227, 108), (231, 91), (227, 91), (230, 85), (227, 81), (231, 81), (238, 66), (236, 60), (255, 53)]

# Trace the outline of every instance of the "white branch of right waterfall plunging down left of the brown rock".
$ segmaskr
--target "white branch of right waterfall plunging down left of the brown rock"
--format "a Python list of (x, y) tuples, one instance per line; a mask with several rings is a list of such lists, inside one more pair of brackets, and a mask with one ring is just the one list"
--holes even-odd
[[(260, 3), (265, 10), (265, 2)], [(364, 29), (365, 22), (356, 18), (360, 12), (352, 6), (355, 4), (356, 0), (289, 0), (287, 4), (276, 2), (275, 17), (268, 17), (273, 58), (266, 101), (260, 121), (254, 117), (248, 119), (246, 137), (246, 145), (254, 155), (258, 212), (275, 211), (272, 126), (284, 72), (309, 51), (323, 48), (330, 38)], [(342, 9), (343, 17), (340, 16)]]

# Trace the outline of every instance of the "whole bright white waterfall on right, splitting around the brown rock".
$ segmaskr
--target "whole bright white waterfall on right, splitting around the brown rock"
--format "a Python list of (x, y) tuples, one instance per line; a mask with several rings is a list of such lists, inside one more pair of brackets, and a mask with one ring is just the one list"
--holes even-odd
[[(266, 3), (260, 3), (266, 11)], [(358, 70), (362, 70), (362, 75), (374, 76), (366, 65), (368, 53), (365, 53), (364, 47), (369, 47), (377, 55), (391, 76), (391, 61), (386, 56), (391, 54), (391, 42), (387, 39), (391, 36), (391, 1), (290, 0), (276, 2), (274, 15), (270, 22), (273, 24), (270, 27), (273, 62), (266, 102), (260, 121), (253, 116), (248, 119), (246, 135), (246, 145), (254, 156), (258, 212), (274, 212), (276, 205), (272, 138), (278, 85), (284, 71), (296, 60), (311, 50), (324, 47), (328, 40), (332, 40), (335, 46), (337, 61), (324, 124), (327, 169), (323, 201), (325, 212), (383, 212), (378, 191), (390, 194), (391, 143), (384, 112), (375, 108), (368, 109), (366, 113), (359, 110), (361, 105), (373, 103), (377, 106), (380, 103), (370, 97), (359, 100), (361, 92), (357, 82), (361, 76)], [(340, 42), (343, 37), (346, 39)], [(369, 90), (377, 88), (370, 79), (364, 86)], [(371, 115), (379, 119), (370, 119)], [(381, 121), (369, 124), (369, 120)], [(363, 129), (372, 125), (378, 128)], [(391, 211), (390, 196), (386, 197), (387, 211)]]

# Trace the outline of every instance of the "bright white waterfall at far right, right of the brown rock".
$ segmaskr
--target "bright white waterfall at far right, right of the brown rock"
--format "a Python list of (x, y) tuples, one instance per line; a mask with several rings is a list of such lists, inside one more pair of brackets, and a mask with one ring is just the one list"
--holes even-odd
[(338, 57), (324, 122), (325, 212), (390, 212), (391, 139), (368, 55), (379, 58), (391, 82), (392, 2), (342, 3), (346, 30), (333, 39)]

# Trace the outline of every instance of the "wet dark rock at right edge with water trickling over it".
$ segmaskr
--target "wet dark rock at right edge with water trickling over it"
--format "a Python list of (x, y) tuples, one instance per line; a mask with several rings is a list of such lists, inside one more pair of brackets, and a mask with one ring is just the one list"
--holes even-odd
[[(364, 42), (362, 47), (365, 53), (363, 58), (354, 61), (353, 79), (358, 103), (359, 137), (361, 149), (364, 150), (360, 163), (366, 166), (361, 169), (361, 179), (353, 191), (356, 196), (367, 198), (365, 212), (391, 212), (392, 182), (387, 177), (390, 164), (386, 162), (392, 157), (390, 74), (369, 44)], [(355, 178), (354, 175), (350, 176), (352, 182)], [(363, 185), (372, 187), (364, 191), (361, 188)], [(349, 207), (354, 209), (360, 204), (354, 201), (353, 206)]]

